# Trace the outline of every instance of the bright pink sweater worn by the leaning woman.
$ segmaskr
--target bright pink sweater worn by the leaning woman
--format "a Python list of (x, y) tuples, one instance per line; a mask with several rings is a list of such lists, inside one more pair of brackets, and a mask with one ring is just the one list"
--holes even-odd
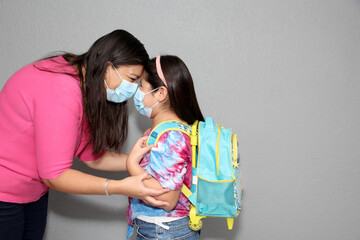
[[(63, 57), (36, 66), (76, 74)], [(0, 201), (27, 203), (48, 191), (41, 179), (91, 161), (78, 77), (23, 67), (0, 92)]]

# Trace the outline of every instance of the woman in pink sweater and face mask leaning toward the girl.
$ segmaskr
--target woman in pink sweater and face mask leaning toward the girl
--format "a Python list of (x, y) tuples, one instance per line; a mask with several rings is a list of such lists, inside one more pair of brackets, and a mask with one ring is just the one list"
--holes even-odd
[(125, 171), (126, 101), (148, 60), (124, 30), (84, 54), (47, 58), (17, 71), (0, 92), (0, 239), (42, 239), (49, 188), (74, 194), (122, 194), (154, 206), (168, 190), (146, 188), (142, 174), (108, 180), (71, 169), (78, 156), (99, 170)]

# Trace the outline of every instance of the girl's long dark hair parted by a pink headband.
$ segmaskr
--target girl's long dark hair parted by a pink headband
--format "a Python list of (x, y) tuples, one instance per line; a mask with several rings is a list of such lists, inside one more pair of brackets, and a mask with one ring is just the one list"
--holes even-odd
[[(160, 57), (160, 65), (167, 82), (171, 109), (188, 124), (193, 124), (195, 120), (204, 121), (193, 79), (185, 63), (177, 56), (167, 55)], [(166, 87), (157, 73), (155, 58), (145, 65), (145, 70), (152, 89)]]

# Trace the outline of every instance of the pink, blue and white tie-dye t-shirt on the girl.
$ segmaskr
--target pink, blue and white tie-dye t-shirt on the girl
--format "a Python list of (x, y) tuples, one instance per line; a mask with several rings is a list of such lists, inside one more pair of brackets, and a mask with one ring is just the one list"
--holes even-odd
[[(190, 132), (190, 127), (178, 123), (179, 126)], [(149, 136), (151, 129), (144, 136)], [(183, 183), (191, 186), (191, 145), (190, 137), (183, 132), (170, 130), (160, 136), (158, 143), (143, 157), (140, 166), (152, 177), (159, 181), (164, 188), (180, 190)], [(140, 215), (161, 217), (188, 216), (190, 211), (189, 200), (180, 193), (179, 201), (171, 211), (152, 207), (143, 201), (129, 198), (127, 212), (128, 224)]]

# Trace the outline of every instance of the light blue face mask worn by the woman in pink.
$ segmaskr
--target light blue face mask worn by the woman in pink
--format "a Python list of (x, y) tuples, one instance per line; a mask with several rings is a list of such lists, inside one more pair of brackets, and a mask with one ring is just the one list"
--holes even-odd
[(134, 95), (136, 89), (138, 88), (138, 84), (123, 79), (118, 70), (114, 67), (114, 65), (113, 68), (120, 77), (121, 84), (114, 90), (109, 88), (106, 81), (104, 80), (106, 85), (106, 99), (110, 102), (122, 103), (131, 98), (132, 95)]

